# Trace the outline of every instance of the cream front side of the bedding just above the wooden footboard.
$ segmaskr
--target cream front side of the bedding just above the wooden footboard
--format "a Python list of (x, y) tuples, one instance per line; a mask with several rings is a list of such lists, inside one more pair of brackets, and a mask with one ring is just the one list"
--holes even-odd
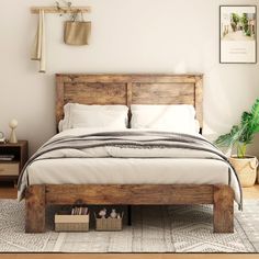
[(27, 168), (30, 184), (228, 184), (221, 160), (166, 158), (63, 158)]

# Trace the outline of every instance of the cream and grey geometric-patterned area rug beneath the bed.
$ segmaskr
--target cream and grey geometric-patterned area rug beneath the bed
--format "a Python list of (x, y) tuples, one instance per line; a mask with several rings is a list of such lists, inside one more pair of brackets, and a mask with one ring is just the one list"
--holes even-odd
[[(126, 209), (126, 207), (124, 207)], [(123, 232), (55, 233), (47, 211), (47, 232), (24, 233), (24, 203), (0, 200), (1, 252), (257, 252), (259, 201), (235, 212), (234, 234), (213, 234), (212, 206), (133, 206), (132, 226)], [(93, 219), (93, 218), (92, 218)], [(92, 221), (93, 224), (93, 221)]]

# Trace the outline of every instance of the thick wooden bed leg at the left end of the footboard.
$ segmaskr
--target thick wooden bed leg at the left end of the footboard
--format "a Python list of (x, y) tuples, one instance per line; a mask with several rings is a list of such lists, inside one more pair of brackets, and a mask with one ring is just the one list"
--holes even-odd
[(45, 185), (31, 185), (25, 194), (25, 233), (45, 232)]

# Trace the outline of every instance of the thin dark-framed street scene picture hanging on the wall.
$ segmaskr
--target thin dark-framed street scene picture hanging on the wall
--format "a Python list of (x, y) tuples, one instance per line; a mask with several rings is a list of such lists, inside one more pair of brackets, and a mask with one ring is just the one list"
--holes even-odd
[(257, 64), (257, 5), (219, 7), (219, 64)]

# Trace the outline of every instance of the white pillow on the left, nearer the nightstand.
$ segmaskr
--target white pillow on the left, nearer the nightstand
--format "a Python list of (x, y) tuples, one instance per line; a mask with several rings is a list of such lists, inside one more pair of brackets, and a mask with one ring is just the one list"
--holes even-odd
[(76, 127), (103, 127), (124, 130), (128, 124), (126, 105), (85, 105), (67, 103), (65, 117), (59, 122), (59, 131)]

